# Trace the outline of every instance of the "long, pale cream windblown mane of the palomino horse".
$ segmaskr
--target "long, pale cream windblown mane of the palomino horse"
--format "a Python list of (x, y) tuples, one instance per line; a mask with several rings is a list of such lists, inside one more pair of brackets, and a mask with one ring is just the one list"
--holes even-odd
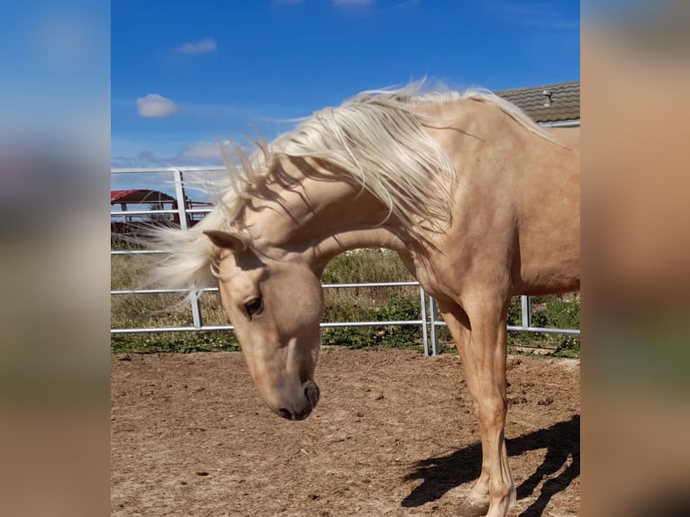
[(520, 108), (491, 92), (470, 89), (463, 94), (420, 94), (421, 86), (415, 83), (396, 90), (362, 92), (338, 107), (300, 119), (295, 130), (271, 143), (254, 141), (257, 150), (252, 156), (235, 142), (221, 143), (229, 172), (226, 193), (213, 212), (191, 230), (154, 232), (152, 245), (168, 252), (156, 269), (157, 283), (192, 286), (190, 296), (214, 284), (215, 250), (202, 232), (231, 226), (242, 231), (236, 222), (238, 213), (276, 174), (281, 156), (316, 159), (338, 168), (386, 204), (390, 216), (410, 228), (433, 231), (449, 223), (449, 189), (440, 187), (440, 181), (453, 176), (453, 165), (423, 128), (442, 127), (440, 123), (452, 120), (422, 114), (415, 110), (418, 106), (464, 99), (493, 104), (529, 132), (554, 141)]

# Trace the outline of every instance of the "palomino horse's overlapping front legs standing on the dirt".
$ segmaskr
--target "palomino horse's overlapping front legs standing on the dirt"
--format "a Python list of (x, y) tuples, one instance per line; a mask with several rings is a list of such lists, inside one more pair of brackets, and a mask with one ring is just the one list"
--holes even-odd
[(504, 427), (507, 303), (466, 304), (443, 316), (458, 346), (482, 440), (482, 473), (458, 512), (504, 517), (515, 503)]

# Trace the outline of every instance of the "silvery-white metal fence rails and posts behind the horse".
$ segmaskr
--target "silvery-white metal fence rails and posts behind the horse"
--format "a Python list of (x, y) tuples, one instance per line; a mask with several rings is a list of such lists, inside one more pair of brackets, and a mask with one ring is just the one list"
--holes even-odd
[[(194, 173), (200, 175), (204, 173), (217, 173), (224, 171), (224, 168), (111, 168), (112, 175), (122, 174), (160, 174), (169, 173), (172, 176), (175, 185), (175, 194), (177, 199), (177, 210), (127, 210), (127, 211), (113, 211), (111, 210), (111, 221), (118, 218), (128, 217), (150, 217), (152, 215), (175, 214), (178, 218), (180, 228), (186, 230), (190, 227), (190, 216), (198, 213), (208, 213), (210, 208), (189, 208), (187, 206), (188, 199), (185, 193), (185, 174)], [(141, 250), (141, 249), (111, 249), (111, 256), (134, 256), (134, 255), (153, 255), (161, 254), (163, 251), (159, 250)], [(403, 321), (385, 321), (385, 322), (322, 322), (321, 327), (324, 329), (335, 327), (387, 327), (392, 325), (400, 326), (419, 326), (422, 330), (422, 341), (424, 347), (424, 355), (438, 355), (439, 348), (439, 334), (440, 327), (445, 326), (446, 323), (439, 319), (437, 313), (436, 301), (427, 295), (422, 286), (418, 282), (370, 282), (360, 284), (324, 284), (324, 289), (345, 289), (357, 287), (397, 287), (397, 286), (416, 286), (419, 288), (420, 295), (420, 314), (419, 319), (403, 320)], [(216, 287), (209, 287), (202, 291), (217, 292)], [(186, 295), (189, 293), (187, 289), (124, 289), (111, 290), (111, 296), (122, 295), (162, 295), (162, 294), (179, 294)], [(556, 329), (544, 327), (532, 327), (530, 321), (530, 299), (528, 296), (521, 297), (522, 304), (522, 321), (521, 325), (509, 325), (509, 331), (524, 331), (524, 332), (552, 332), (562, 334), (579, 334), (578, 329)], [(111, 329), (112, 334), (133, 334), (133, 333), (147, 333), (147, 332), (186, 332), (186, 331), (232, 331), (232, 325), (204, 325), (202, 321), (201, 308), (198, 297), (192, 299), (189, 303), (192, 312), (191, 326), (185, 327), (142, 327), (142, 328), (114, 328)], [(427, 308), (428, 307), (428, 308)]]

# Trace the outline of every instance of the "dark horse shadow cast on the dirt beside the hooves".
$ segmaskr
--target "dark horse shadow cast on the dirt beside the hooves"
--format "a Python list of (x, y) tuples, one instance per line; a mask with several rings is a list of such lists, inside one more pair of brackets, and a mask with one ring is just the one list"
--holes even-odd
[[(506, 440), (506, 446), (508, 456), (520, 456), (528, 450), (547, 449), (542, 464), (517, 487), (518, 500), (533, 494), (545, 476), (558, 472), (567, 465), (568, 458), (572, 458), (563, 472), (542, 485), (537, 500), (519, 516), (538, 517), (551, 497), (565, 490), (580, 475), (580, 415), (573, 415), (570, 420), (558, 422), (548, 429)], [(482, 449), (478, 443), (458, 449), (447, 456), (417, 462), (414, 471), (405, 476), (404, 480), (422, 479), (423, 482), (404, 498), (402, 505), (409, 508), (440, 499), (450, 489), (477, 479), (481, 464)]]

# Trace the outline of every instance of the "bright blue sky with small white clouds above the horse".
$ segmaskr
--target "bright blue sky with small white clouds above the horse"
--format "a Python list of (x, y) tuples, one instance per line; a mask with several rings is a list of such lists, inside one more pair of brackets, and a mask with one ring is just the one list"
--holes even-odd
[(577, 80), (577, 1), (117, 0), (114, 167), (218, 163), (215, 138), (428, 77), (501, 90)]

